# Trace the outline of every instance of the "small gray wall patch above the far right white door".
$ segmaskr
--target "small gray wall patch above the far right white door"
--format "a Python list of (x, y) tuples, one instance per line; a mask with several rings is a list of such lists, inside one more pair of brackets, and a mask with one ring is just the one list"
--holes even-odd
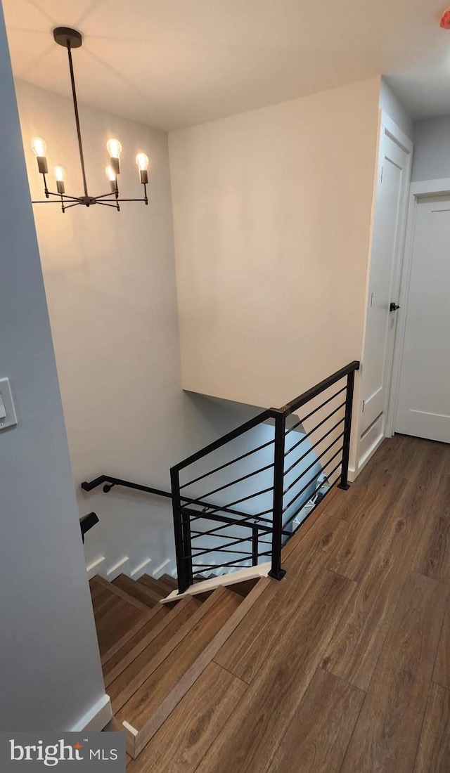
[(450, 115), (414, 123), (411, 181), (450, 177)]

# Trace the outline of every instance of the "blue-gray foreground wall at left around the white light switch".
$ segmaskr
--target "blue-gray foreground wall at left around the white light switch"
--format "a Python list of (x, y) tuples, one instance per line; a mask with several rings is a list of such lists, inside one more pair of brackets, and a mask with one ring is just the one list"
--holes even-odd
[(1, 8), (0, 104), (0, 727), (70, 730), (104, 683)]

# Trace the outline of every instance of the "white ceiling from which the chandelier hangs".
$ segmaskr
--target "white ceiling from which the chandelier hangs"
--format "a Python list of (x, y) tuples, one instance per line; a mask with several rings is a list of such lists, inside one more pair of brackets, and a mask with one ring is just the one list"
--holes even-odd
[[(172, 129), (383, 73), (413, 117), (450, 113), (445, 0), (2, 0), (16, 77)], [(448, 0), (447, 0), (448, 2)]]

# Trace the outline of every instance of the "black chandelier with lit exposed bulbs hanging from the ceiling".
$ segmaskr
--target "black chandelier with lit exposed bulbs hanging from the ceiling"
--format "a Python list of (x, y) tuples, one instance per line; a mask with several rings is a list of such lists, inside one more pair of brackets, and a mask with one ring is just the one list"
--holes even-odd
[(67, 55), (69, 57), (69, 70), (70, 70), (70, 82), (72, 83), (72, 96), (73, 96), (73, 111), (75, 112), (75, 123), (77, 124), (77, 137), (78, 148), (80, 150), (80, 163), (81, 173), (83, 175), (84, 196), (69, 196), (66, 193), (64, 178), (66, 172), (62, 166), (56, 166), (54, 169), (54, 175), (56, 180), (56, 191), (49, 191), (47, 188), (46, 175), (49, 172), (46, 152), (47, 146), (45, 141), (40, 137), (32, 139), (31, 147), (32, 152), (36, 155), (37, 165), (39, 173), (43, 175), (44, 193), (46, 198), (39, 201), (33, 201), (33, 204), (61, 204), (63, 212), (69, 209), (71, 206), (77, 206), (83, 204), (84, 206), (92, 206), (93, 204), (101, 204), (103, 206), (112, 206), (114, 209), (121, 209), (121, 202), (124, 201), (143, 201), (148, 205), (147, 198), (147, 184), (148, 184), (148, 156), (145, 153), (138, 153), (136, 156), (136, 164), (139, 170), (139, 179), (144, 186), (144, 197), (142, 199), (121, 199), (119, 198), (118, 188), (118, 175), (121, 172), (120, 157), (122, 146), (117, 139), (110, 139), (107, 141), (106, 147), (109, 155), (109, 165), (105, 169), (107, 179), (110, 181), (111, 191), (102, 194), (101, 196), (90, 196), (87, 192), (86, 182), (86, 170), (84, 168), (84, 153), (83, 142), (81, 140), (80, 131), (80, 117), (78, 115), (78, 103), (77, 103), (77, 90), (75, 88), (75, 77), (73, 75), (73, 63), (72, 63), (72, 49), (80, 48), (83, 43), (83, 36), (77, 29), (70, 29), (70, 27), (56, 27), (53, 29), (53, 37), (59, 46), (64, 46), (67, 49)]

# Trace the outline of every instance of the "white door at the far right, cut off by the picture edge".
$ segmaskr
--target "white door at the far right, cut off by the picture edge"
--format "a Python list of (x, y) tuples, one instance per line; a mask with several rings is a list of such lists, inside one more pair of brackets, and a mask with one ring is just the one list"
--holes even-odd
[(414, 220), (395, 431), (450, 443), (450, 197), (419, 199)]

